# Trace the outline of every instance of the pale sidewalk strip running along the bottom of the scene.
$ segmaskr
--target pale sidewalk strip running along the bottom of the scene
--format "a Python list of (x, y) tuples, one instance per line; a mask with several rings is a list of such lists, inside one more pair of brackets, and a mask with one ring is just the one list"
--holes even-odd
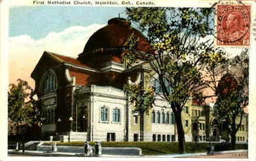
[[(111, 157), (111, 158), (138, 158), (138, 157), (149, 157), (149, 158), (209, 158), (210, 156), (213, 156), (211, 158), (215, 158), (214, 156), (217, 156), (219, 154), (232, 154), (228, 156), (237, 156), (236, 154), (245, 153), (247, 150), (237, 150), (237, 151), (219, 151), (215, 152), (212, 155), (207, 155), (206, 152), (200, 152), (200, 153), (189, 153), (189, 154), (164, 154), (164, 155), (155, 155), (155, 156), (126, 156), (126, 155), (110, 155), (110, 154), (101, 154), (97, 157)], [(27, 155), (33, 155), (33, 156), (71, 156), (71, 157), (96, 157), (94, 155), (92, 156), (84, 156), (84, 154), (81, 153), (72, 153), (72, 152), (42, 152), (42, 151), (14, 151), (14, 150), (8, 150), (8, 154), (27, 154)], [(245, 157), (244, 157), (245, 158)]]

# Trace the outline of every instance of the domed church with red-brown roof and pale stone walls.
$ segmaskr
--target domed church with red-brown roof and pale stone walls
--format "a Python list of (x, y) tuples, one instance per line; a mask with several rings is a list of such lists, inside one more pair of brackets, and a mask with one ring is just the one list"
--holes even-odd
[[(41, 126), (43, 139), (139, 141), (139, 115), (132, 113), (123, 85), (142, 81), (157, 86), (157, 81), (150, 77), (152, 71), (143, 62), (126, 68), (122, 53), (129, 52), (125, 43), (131, 34), (145, 40), (130, 22), (112, 18), (88, 39), (77, 58), (43, 53), (31, 73), (45, 118)], [(182, 115), (186, 141), (205, 141), (210, 135), (211, 129), (206, 127), (214, 121), (199, 115), (204, 107), (192, 100), (185, 107)], [(177, 141), (174, 114), (166, 101), (156, 98), (155, 107), (144, 119), (143, 141)], [(219, 137), (219, 130), (215, 135)]]

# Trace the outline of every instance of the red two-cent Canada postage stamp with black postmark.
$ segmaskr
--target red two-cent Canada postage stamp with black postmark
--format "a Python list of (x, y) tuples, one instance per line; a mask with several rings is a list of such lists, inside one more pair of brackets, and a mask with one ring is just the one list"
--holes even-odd
[(217, 5), (216, 45), (250, 46), (250, 5)]

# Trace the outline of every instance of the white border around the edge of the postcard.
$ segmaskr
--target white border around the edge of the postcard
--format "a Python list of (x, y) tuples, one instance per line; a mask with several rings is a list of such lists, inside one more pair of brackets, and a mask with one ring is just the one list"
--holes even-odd
[[(46, 0), (43, 0), (46, 1)], [(62, 0), (57, 0), (62, 1)], [(73, 1), (73, 0), (70, 0)], [(94, 2), (95, 0), (91, 0)], [(101, 1), (101, 0), (99, 0)], [(113, 0), (113, 1), (119, 1), (119, 0)], [(121, 2), (120, 0), (119, 2)], [(128, 0), (124, 0), (128, 1)], [(138, 0), (138, 1), (146, 1), (146, 0)], [(177, 0), (151, 0), (156, 5), (153, 6), (147, 6), (147, 7), (206, 7), (211, 6), (213, 3), (217, 1), (211, 1), (211, 0), (183, 0), (179, 1), (177, 3)], [(0, 160), (155, 160), (155, 158), (75, 158), (75, 157), (7, 157), (7, 91), (8, 91), (8, 84), (9, 84), (9, 5), (33, 5), (32, 0), (1, 0), (0, 4), (0, 24), (1, 24), (1, 31), (0, 31)], [(133, 3), (136, 1), (132, 0)], [(255, 1), (244, 1), (246, 3), (251, 3), (251, 13), (256, 13)], [(9, 4), (8, 4), (9, 3)], [(79, 5), (81, 6), (81, 5)], [(94, 6), (94, 5), (92, 5)], [(126, 7), (124, 5), (119, 5), (119, 7)], [(134, 5), (134, 7), (136, 7)], [(253, 23), (255, 24), (255, 18), (256, 15), (252, 15), (251, 20), (253, 20)], [(248, 143), (248, 158), (246, 159), (232, 159), (232, 158), (225, 158), (225, 159), (216, 159), (216, 158), (208, 158), (208, 160), (256, 160), (256, 117), (253, 116), (256, 114), (256, 75), (255, 75), (255, 69), (256, 69), (256, 36), (253, 36), (253, 33), (256, 33), (256, 31), (252, 31), (251, 33), (251, 48), (250, 48), (250, 68), (249, 68), (249, 143)], [(157, 158), (158, 160), (205, 160), (205, 158)]]

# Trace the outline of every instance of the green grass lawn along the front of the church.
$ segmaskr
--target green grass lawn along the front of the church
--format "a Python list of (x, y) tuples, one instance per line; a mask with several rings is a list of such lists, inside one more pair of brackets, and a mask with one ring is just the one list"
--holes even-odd
[[(83, 147), (83, 141), (73, 141), (73, 142), (57, 142), (57, 145), (64, 146), (79, 146)], [(94, 145), (95, 142), (90, 141), (90, 145)], [(44, 145), (51, 145), (51, 143), (44, 143)], [(206, 147), (209, 143), (185, 143), (186, 153), (194, 152), (207, 152)], [(216, 143), (212, 144), (213, 146)], [(139, 147), (142, 150), (143, 155), (159, 155), (159, 154), (179, 154), (179, 144), (178, 142), (153, 142), (153, 141), (103, 141), (101, 142), (102, 147)], [(247, 145), (236, 145), (236, 149), (247, 149)]]

